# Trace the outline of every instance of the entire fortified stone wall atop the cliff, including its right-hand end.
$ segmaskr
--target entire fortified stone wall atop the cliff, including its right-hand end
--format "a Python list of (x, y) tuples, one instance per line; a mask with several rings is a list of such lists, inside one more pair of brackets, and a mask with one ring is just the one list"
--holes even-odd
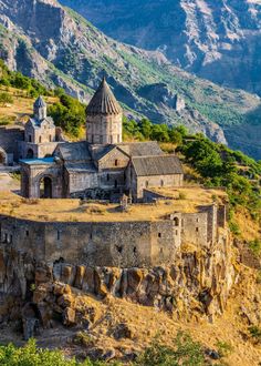
[(30, 252), (46, 263), (150, 267), (175, 263), (182, 245), (211, 248), (220, 241), (219, 228), (226, 227), (225, 215), (225, 206), (209, 205), (198, 213), (173, 213), (146, 222), (34, 222), (0, 216), (0, 237), (1, 245)]

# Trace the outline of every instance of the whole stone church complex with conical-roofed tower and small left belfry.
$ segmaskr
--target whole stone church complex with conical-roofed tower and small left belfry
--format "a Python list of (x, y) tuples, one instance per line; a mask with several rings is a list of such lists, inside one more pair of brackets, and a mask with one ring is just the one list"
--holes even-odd
[(124, 143), (122, 119), (122, 108), (103, 79), (86, 109), (86, 140), (58, 142), (40, 98), (22, 143), (22, 195), (116, 200), (127, 194), (140, 201), (145, 189), (181, 186), (179, 159), (164, 154), (157, 142)]

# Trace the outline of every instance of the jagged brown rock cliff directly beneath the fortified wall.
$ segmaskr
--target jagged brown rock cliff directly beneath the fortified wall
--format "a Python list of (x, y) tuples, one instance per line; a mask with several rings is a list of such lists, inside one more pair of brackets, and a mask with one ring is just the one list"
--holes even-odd
[[(91, 324), (95, 312), (79, 296), (111, 296), (173, 314), (176, 319), (213, 322), (222, 314), (237, 278), (233, 252), (223, 241), (211, 250), (182, 248), (173, 265), (154, 268), (88, 267), (36, 262), (2, 245), (0, 250), (0, 323), (22, 319), (24, 338), (52, 327)], [(114, 337), (130, 337), (124, 324)]]

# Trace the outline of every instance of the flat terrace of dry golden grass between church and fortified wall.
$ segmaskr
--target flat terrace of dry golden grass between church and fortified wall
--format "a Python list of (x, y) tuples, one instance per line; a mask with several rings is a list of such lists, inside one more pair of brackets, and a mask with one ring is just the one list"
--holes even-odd
[(213, 195), (220, 202), (227, 199), (222, 191), (201, 187), (171, 190), (171, 193), (174, 200), (159, 201), (157, 204), (135, 204), (127, 212), (122, 212), (117, 204), (81, 204), (79, 200), (24, 200), (12, 193), (0, 192), (0, 213), (36, 221), (155, 221), (164, 220), (174, 212), (197, 212), (198, 205), (211, 204)]

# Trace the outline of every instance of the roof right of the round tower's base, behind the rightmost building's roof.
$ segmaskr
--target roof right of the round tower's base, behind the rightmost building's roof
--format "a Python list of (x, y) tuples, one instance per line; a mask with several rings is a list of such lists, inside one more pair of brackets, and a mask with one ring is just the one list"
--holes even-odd
[(163, 151), (156, 141), (123, 143), (117, 146), (129, 156), (163, 155)]

